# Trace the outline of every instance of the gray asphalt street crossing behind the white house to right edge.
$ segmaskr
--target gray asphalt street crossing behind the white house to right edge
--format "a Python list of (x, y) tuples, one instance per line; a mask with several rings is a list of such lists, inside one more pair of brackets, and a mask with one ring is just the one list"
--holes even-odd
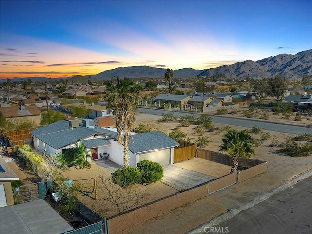
[[(162, 115), (163, 113), (168, 113), (168, 110), (138, 108), (138, 112), (146, 113), (146, 114), (153, 114), (153, 115)], [(200, 117), (200, 114), (196, 114), (196, 113), (185, 113), (185, 112), (176, 112), (176, 111), (171, 111), (171, 113), (174, 113), (176, 116), (194, 114), (196, 117)], [(264, 128), (265, 130), (276, 131), (276, 132), (292, 133), (292, 134), (299, 134), (299, 135), (304, 134), (304, 133), (312, 134), (312, 128), (309, 128), (309, 127), (269, 123), (269, 122), (252, 120), (252, 119), (249, 120), (249, 119), (232, 118), (232, 117), (226, 117), (226, 116), (211, 115), (211, 117), (214, 123), (219, 123), (219, 124), (236, 125), (236, 126), (242, 126), (246, 128), (252, 128), (253, 126), (256, 125), (258, 128)]]

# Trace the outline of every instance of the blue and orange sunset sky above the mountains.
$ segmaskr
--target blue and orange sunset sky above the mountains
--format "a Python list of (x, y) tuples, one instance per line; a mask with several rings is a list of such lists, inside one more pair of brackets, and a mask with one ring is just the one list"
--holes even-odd
[(0, 1), (1, 79), (208, 69), (312, 49), (312, 1)]

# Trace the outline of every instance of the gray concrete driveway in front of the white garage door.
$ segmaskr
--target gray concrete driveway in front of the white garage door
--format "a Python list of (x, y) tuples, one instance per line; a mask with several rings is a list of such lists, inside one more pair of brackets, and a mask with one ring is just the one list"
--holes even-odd
[(196, 185), (216, 179), (216, 177), (193, 170), (179, 168), (172, 164), (164, 165), (163, 168), (164, 177), (162, 177), (161, 182), (177, 189), (178, 191), (187, 190)]

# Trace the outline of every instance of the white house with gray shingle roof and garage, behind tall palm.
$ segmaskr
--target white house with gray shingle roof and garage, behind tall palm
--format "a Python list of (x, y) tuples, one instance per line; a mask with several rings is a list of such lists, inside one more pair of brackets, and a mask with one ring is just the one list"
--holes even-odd
[[(92, 121), (92, 120), (91, 120)], [(90, 126), (89, 126), (90, 127)], [(86, 128), (78, 120), (60, 120), (29, 132), (34, 146), (40, 152), (54, 155), (80, 142), (91, 152), (92, 160), (108, 156), (123, 165), (123, 146), (118, 145), (117, 133), (102, 128)], [(173, 163), (174, 148), (179, 143), (161, 132), (133, 134), (129, 141), (129, 163), (136, 167), (140, 160), (148, 159), (160, 164)]]

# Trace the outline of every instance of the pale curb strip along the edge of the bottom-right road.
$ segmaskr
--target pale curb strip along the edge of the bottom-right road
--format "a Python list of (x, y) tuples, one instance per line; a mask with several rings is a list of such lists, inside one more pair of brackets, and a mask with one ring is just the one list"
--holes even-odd
[(272, 197), (275, 193), (277, 193), (279, 191), (283, 191), (283, 190), (291, 187), (295, 183), (299, 182), (300, 180), (306, 179), (310, 176), (312, 176), (312, 169), (307, 170), (298, 176), (295, 176), (294, 178), (287, 181), (283, 185), (280, 185), (280, 186), (278, 186), (278, 187), (276, 187), (276, 188), (274, 188), (268, 192), (265, 192), (264, 194), (254, 198), (252, 201), (240, 206), (238, 209), (229, 210), (228, 212), (223, 213), (218, 217), (215, 217), (214, 219), (208, 221), (207, 223), (201, 224), (200, 226), (198, 226), (197, 228), (187, 232), (186, 234), (202, 234), (204, 232), (205, 227), (214, 227), (214, 226), (218, 225), (219, 223), (224, 222), (224, 221), (234, 217), (236, 214), (240, 213), (241, 211), (249, 209), (256, 204), (258, 204), (262, 201), (265, 201), (266, 199)]

